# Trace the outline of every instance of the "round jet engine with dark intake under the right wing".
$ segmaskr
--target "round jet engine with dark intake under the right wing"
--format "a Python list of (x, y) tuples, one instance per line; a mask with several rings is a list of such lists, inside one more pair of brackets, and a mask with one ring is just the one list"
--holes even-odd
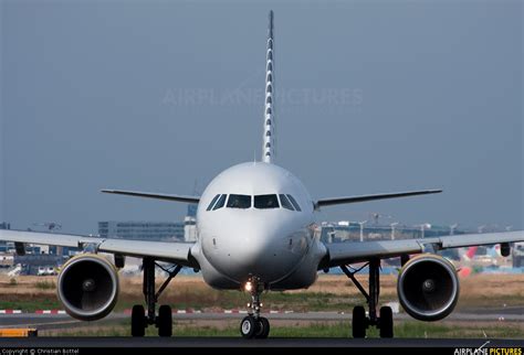
[(400, 270), (397, 292), (404, 310), (419, 321), (438, 321), (450, 314), (459, 300), (457, 270), (444, 258), (426, 254)]

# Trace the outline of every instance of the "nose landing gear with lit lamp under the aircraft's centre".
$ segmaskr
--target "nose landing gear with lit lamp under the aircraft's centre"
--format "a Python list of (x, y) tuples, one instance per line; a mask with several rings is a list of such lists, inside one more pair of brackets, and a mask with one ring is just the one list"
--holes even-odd
[(249, 314), (240, 322), (240, 334), (244, 338), (266, 338), (270, 334), (270, 322), (260, 316), (262, 308), (260, 293), (264, 290), (264, 286), (258, 278), (250, 278), (244, 288), (251, 293), (251, 302), (248, 303)]

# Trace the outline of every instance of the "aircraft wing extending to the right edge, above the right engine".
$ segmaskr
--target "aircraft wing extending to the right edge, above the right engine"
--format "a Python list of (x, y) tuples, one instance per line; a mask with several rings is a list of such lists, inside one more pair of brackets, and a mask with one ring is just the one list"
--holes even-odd
[(419, 239), (329, 243), (325, 244), (327, 255), (321, 262), (319, 269), (367, 261), (371, 258), (387, 259), (405, 254), (516, 241), (524, 241), (524, 230), (463, 234)]

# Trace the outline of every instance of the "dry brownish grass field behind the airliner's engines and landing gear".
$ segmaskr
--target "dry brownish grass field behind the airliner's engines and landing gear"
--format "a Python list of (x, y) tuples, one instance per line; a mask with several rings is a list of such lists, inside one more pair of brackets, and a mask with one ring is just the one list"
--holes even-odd
[[(55, 277), (0, 276), (0, 309), (15, 308), (31, 312), (36, 309), (62, 309), (56, 298)], [(357, 279), (367, 287), (367, 276)], [(157, 288), (163, 280), (158, 280)], [(465, 308), (522, 305), (524, 275), (474, 275), (461, 279), (461, 293), (457, 310)], [(397, 301), (396, 276), (381, 278), (380, 301)], [(208, 287), (200, 276), (179, 276), (165, 290), (159, 303), (174, 309), (195, 309), (212, 312), (220, 309), (244, 309), (250, 297), (241, 291), (219, 291)], [(266, 292), (262, 295), (266, 310), (344, 311), (350, 312), (364, 298), (345, 276), (321, 275), (307, 290)], [(120, 292), (115, 311), (130, 309), (144, 302), (142, 278), (120, 278)]]

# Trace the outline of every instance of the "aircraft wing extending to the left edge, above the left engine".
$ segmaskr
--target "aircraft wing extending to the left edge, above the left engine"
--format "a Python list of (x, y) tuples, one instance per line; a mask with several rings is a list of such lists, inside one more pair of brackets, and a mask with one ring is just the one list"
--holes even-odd
[(161, 261), (200, 268), (198, 262), (191, 257), (191, 247), (195, 243), (114, 239), (10, 229), (0, 229), (0, 240), (86, 249), (93, 248), (99, 252), (118, 254), (138, 258), (153, 257)]

